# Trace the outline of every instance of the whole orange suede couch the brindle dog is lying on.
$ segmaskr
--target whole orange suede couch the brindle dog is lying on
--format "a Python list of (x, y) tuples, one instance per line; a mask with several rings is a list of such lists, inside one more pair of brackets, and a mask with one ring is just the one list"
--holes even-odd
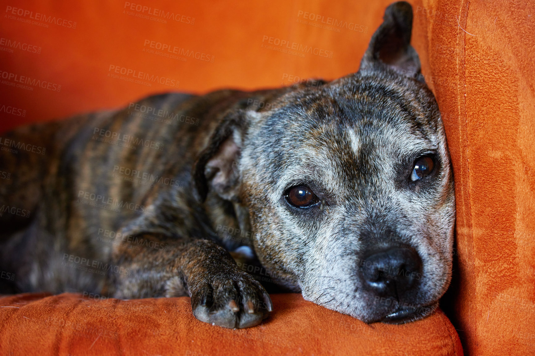
[[(358, 68), (389, 3), (5, 4), (0, 131), (161, 91), (340, 77)], [(455, 174), (456, 263), (442, 307), (465, 353), (535, 354), (535, 5), (412, 4), (412, 42), (443, 114)], [(327, 25), (329, 18), (342, 23)], [(313, 45), (328, 56), (264, 48), (266, 36)], [(166, 52), (158, 50), (164, 45)], [(125, 75), (117, 76), (117, 68)], [(136, 82), (129, 70), (157, 79)], [(3, 297), (0, 354), (463, 352), (440, 311), (407, 325), (366, 326), (299, 295), (274, 295), (273, 303), (261, 327), (224, 330), (195, 321), (188, 298)]]

